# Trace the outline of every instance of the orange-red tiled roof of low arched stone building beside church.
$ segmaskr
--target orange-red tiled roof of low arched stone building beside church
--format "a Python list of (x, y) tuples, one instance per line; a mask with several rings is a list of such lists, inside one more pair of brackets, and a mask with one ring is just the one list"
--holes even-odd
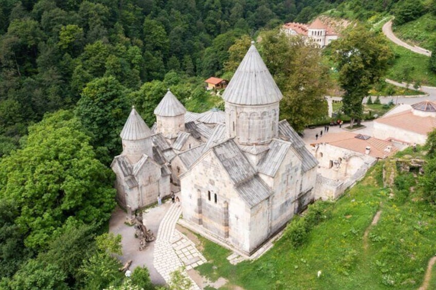
[[(357, 134), (350, 132), (328, 133), (318, 138), (313, 144), (327, 143), (336, 147), (365, 154), (367, 146), (371, 147), (369, 155), (375, 158), (385, 158), (395, 153), (398, 149), (392, 143), (371, 137), (367, 140), (356, 138)], [(385, 150), (391, 146), (391, 151)]]

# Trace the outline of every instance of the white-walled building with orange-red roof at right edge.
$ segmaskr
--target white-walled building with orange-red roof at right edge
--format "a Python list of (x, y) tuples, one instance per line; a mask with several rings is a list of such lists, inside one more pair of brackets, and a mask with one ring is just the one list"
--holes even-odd
[(425, 144), (427, 134), (436, 127), (436, 103), (424, 101), (402, 104), (374, 120), (375, 138)]

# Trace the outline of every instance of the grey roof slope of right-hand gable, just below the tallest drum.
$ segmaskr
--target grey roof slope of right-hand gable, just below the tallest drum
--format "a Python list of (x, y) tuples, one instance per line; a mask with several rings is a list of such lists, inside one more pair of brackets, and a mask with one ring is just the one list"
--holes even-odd
[(269, 145), (269, 151), (266, 153), (262, 164), (259, 166), (259, 172), (267, 176), (274, 177), (290, 148), (290, 143), (273, 140)]

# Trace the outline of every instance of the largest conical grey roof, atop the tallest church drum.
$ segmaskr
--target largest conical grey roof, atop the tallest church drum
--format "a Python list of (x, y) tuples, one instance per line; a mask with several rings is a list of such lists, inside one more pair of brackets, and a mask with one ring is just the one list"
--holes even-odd
[(241, 105), (265, 105), (279, 102), (283, 95), (254, 45), (223, 93), (226, 102)]

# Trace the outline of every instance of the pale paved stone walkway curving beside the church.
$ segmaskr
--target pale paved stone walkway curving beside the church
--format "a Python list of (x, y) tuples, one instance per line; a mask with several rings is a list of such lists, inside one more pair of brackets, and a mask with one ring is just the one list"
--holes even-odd
[[(206, 262), (194, 244), (175, 229), (180, 214), (181, 207), (171, 204), (159, 225), (154, 245), (153, 265), (167, 283), (171, 281), (170, 274), (181, 266), (191, 269)], [(191, 289), (200, 289), (186, 271), (183, 274), (192, 281)]]

